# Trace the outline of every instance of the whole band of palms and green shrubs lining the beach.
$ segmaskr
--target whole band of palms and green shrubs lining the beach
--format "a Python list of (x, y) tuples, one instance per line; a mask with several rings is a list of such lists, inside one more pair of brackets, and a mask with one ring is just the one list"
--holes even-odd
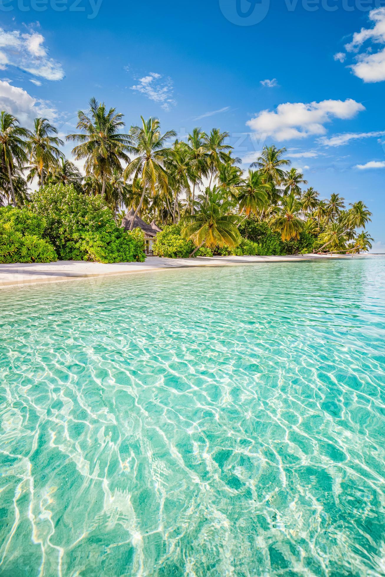
[[(162, 132), (158, 118), (125, 128), (121, 112), (91, 99), (66, 136), (75, 144), (68, 159), (46, 118), (30, 130), (1, 112), (0, 205), (9, 205), (0, 218), (2, 262), (143, 260), (141, 231), (119, 227), (127, 209), (163, 229), (159, 256), (371, 248), (363, 201), (321, 198), (285, 148), (264, 147), (245, 172), (229, 133), (217, 128), (196, 127), (185, 140)], [(28, 219), (29, 228), (17, 225)]]

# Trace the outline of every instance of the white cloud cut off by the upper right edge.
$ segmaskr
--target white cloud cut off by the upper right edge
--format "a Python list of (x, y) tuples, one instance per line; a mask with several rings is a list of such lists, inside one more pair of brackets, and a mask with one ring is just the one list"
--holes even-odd
[[(367, 40), (385, 44), (385, 8), (371, 10), (369, 20), (374, 23), (373, 27), (354, 32), (352, 42), (345, 44), (348, 52), (358, 52)], [(368, 83), (385, 80), (385, 48), (372, 53), (372, 47), (369, 47), (366, 52), (357, 54), (355, 59), (356, 63), (349, 66), (355, 76)]]

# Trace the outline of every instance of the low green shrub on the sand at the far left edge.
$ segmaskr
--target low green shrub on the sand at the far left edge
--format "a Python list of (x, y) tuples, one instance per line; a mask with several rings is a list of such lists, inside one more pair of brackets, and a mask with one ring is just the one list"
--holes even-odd
[(43, 238), (23, 235), (10, 223), (0, 223), (0, 263), (51, 263), (57, 258), (53, 246)]

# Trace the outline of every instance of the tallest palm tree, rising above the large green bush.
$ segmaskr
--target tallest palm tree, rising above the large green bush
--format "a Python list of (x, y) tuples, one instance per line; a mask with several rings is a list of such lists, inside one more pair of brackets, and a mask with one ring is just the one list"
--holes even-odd
[(73, 148), (76, 160), (85, 159), (85, 174), (94, 173), (102, 181), (102, 196), (106, 190), (107, 177), (114, 169), (121, 170), (121, 160), (130, 162), (126, 152), (132, 151), (129, 134), (119, 132), (125, 126), (123, 114), (116, 108), (107, 111), (104, 102), (98, 103), (95, 98), (89, 101), (89, 111), (77, 113), (76, 128), (81, 133), (69, 134), (66, 139), (80, 144)]

